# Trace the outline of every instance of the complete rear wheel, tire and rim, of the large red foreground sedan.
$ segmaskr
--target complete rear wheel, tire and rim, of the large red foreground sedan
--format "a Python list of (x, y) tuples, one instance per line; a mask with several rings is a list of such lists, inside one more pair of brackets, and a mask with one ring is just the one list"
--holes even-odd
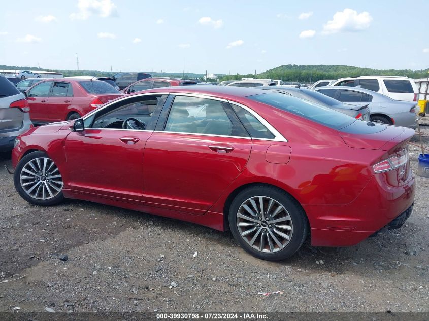
[(239, 244), (253, 256), (269, 261), (293, 255), (308, 233), (301, 206), (270, 186), (252, 186), (240, 192), (229, 208), (228, 220)]

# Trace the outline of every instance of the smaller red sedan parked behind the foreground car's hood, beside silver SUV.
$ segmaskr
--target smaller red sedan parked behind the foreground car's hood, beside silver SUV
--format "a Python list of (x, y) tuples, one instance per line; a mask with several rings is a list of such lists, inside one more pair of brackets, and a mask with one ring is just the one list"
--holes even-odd
[(104, 81), (65, 78), (42, 81), (25, 95), (31, 121), (41, 125), (77, 119), (123, 94)]

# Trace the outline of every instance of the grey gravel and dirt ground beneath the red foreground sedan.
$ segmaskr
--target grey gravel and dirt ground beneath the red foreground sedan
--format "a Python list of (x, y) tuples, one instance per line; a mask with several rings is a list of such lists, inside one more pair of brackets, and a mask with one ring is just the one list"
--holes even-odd
[[(4, 164), (10, 154), (0, 155), (0, 311), (429, 311), (429, 179), (417, 177), (401, 229), (347, 248), (307, 242), (272, 263), (229, 232), (83, 201), (31, 206)], [(271, 291), (283, 292), (258, 294)]]

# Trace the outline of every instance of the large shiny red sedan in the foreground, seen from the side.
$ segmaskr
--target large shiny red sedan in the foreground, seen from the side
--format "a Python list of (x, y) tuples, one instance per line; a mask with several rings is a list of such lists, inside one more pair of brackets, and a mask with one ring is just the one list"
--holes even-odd
[(282, 260), (309, 235), (346, 246), (399, 228), (414, 202), (413, 134), (278, 92), (169, 87), (31, 129), (12, 163), (32, 204), (82, 199), (230, 229), (252, 255)]

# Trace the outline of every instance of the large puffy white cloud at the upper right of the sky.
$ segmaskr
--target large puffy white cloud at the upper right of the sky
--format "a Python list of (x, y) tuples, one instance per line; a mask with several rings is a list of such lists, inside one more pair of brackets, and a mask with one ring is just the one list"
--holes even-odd
[(357, 13), (353, 9), (337, 11), (332, 20), (323, 25), (322, 34), (337, 33), (340, 31), (360, 31), (368, 29), (373, 18), (366, 11)]

